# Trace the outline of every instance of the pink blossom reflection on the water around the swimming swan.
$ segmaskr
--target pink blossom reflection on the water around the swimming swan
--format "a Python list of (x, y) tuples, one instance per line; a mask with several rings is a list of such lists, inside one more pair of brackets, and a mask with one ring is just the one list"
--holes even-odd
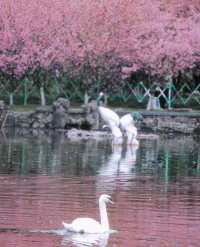
[[(111, 186), (115, 204), (108, 208), (110, 225), (119, 232), (111, 234), (109, 247), (199, 246), (198, 179), (157, 183), (151, 177), (105, 178), (105, 193)], [(0, 246), (76, 246), (65, 243), (64, 236), (39, 230), (62, 229), (63, 220), (80, 216), (99, 219), (98, 197), (96, 177), (1, 176)]]

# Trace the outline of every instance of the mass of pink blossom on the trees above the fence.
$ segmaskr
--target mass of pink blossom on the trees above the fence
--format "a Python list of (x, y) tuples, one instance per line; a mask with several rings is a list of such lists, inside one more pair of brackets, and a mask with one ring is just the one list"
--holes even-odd
[(0, 70), (81, 64), (108, 52), (123, 73), (171, 74), (200, 58), (199, 0), (1, 0)]

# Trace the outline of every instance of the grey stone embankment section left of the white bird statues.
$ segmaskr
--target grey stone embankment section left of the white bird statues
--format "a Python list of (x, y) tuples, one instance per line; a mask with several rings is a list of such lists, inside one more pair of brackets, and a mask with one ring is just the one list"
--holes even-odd
[(38, 107), (35, 111), (10, 111), (6, 127), (32, 129), (97, 129), (98, 113), (95, 104), (80, 108), (70, 107), (67, 99), (59, 98), (52, 106)]

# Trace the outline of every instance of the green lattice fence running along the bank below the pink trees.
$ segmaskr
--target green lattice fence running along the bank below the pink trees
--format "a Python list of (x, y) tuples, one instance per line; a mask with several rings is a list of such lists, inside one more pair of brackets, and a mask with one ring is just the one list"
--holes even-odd
[[(40, 104), (40, 88), (37, 87), (32, 80), (24, 79), (20, 84), (16, 83), (16, 87), (12, 90), (9, 84), (0, 82), (0, 97), (5, 102), (14, 102), (14, 104)], [(196, 86), (191, 86), (183, 83), (177, 86), (173, 83), (167, 83), (165, 86), (156, 86), (157, 97), (165, 103), (166, 108), (171, 107), (189, 107), (200, 106), (200, 83)], [(155, 85), (145, 85), (145, 83), (128, 83), (123, 82), (121, 86), (115, 90), (115, 93), (107, 92), (108, 101), (116, 104), (138, 104), (146, 106), (149, 96), (152, 94)], [(92, 98), (96, 98), (102, 90), (101, 83), (96, 83), (89, 94)], [(45, 96), (47, 104), (51, 104), (59, 96), (68, 98), (74, 103), (83, 103), (86, 90), (81, 81), (71, 81), (63, 78), (62, 81), (56, 79), (48, 82), (48, 87), (45, 88)]]

